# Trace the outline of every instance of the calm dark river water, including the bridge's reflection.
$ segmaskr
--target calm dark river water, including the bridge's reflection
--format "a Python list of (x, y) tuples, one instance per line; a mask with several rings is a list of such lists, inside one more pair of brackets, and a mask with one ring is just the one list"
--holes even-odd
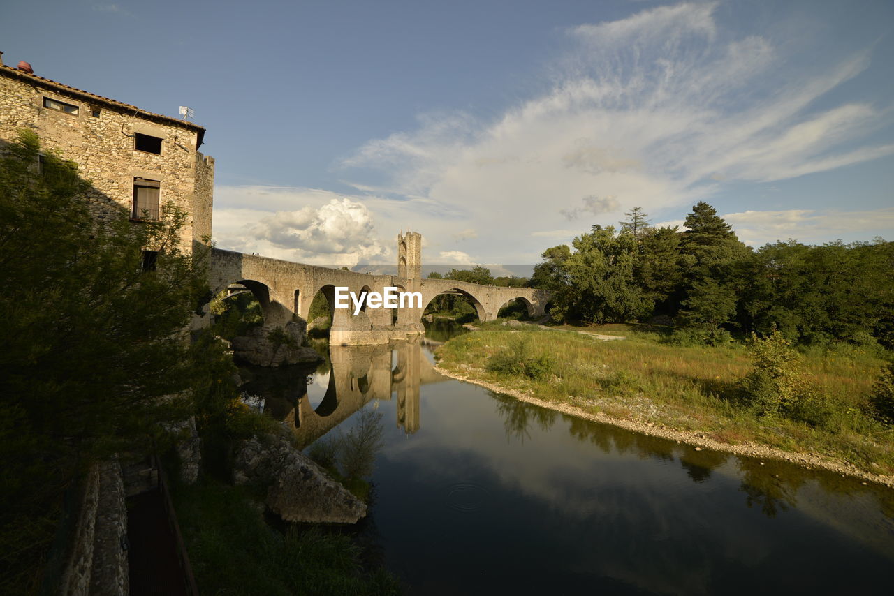
[(264, 388), (305, 445), (381, 414), (361, 527), (409, 593), (894, 591), (894, 491), (519, 403), (431, 349), (333, 347)]

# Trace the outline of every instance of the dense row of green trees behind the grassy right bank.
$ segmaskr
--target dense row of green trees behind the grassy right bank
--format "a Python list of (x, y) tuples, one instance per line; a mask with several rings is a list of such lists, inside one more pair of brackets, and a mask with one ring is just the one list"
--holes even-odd
[(673, 317), (679, 343), (723, 345), (776, 328), (797, 344), (894, 347), (894, 242), (795, 240), (746, 247), (712, 206), (686, 231), (651, 228), (639, 209), (620, 231), (593, 226), (544, 251), (532, 286), (552, 290), (556, 321)]

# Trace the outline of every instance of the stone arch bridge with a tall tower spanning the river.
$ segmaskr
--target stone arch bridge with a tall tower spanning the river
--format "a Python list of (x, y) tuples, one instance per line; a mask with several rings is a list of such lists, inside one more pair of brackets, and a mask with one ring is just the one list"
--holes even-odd
[[(374, 275), (292, 263), (266, 256), (215, 248), (211, 251), (210, 282), (215, 295), (234, 283), (241, 284), (257, 297), (264, 311), (265, 325), (283, 325), (298, 315), (307, 320), (310, 304), (317, 292), (327, 298), (332, 317), (329, 341), (336, 345), (364, 345), (405, 340), (425, 332), (422, 315), (439, 294), (461, 294), (469, 299), (482, 321), (492, 321), (500, 308), (512, 299), (527, 307), (528, 315), (544, 315), (549, 299), (545, 290), (484, 286), (455, 280), (421, 278), (419, 255), (421, 236), (409, 232), (399, 236), (398, 275)], [(353, 307), (333, 308), (336, 287), (348, 288), (358, 296), (361, 291), (384, 292), (386, 286), (401, 291), (420, 292), (422, 307), (366, 308), (354, 315)], [(397, 311), (392, 320), (392, 311)]]

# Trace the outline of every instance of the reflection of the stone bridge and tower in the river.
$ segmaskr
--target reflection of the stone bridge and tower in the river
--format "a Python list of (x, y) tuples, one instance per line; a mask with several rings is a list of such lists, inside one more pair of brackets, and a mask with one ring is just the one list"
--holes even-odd
[(263, 382), (249, 383), (246, 389), (265, 399), (266, 412), (292, 429), (302, 449), (374, 399), (396, 399), (396, 424), (412, 434), (420, 425), (419, 388), (449, 380), (426, 357), (424, 346), (432, 343), (416, 338), (373, 346), (330, 345), (329, 381), (316, 407), (308, 396), (307, 369), (280, 371), (278, 379), (265, 374)]

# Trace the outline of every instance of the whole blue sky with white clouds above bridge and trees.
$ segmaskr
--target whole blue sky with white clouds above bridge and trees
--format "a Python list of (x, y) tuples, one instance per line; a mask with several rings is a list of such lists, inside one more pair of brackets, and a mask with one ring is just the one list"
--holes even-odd
[(894, 240), (894, 3), (5, 0), (4, 63), (177, 116), (219, 248), (536, 264), (642, 207)]

